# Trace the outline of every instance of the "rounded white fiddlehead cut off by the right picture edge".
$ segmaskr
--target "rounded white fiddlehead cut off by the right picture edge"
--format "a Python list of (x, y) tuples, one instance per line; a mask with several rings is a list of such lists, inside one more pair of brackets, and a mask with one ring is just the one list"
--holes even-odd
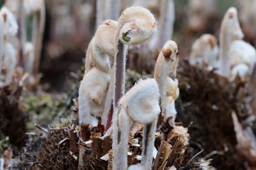
[(230, 80), (233, 81), (238, 75), (245, 81), (253, 72), (256, 63), (255, 48), (243, 40), (233, 41), (228, 53), (230, 59)]

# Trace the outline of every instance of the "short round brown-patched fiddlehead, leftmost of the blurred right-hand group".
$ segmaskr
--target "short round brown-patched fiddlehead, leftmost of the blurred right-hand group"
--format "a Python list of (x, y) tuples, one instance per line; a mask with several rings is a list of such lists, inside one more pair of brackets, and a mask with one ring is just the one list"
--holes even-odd
[(212, 34), (203, 34), (191, 47), (189, 63), (198, 67), (217, 67), (218, 43)]

